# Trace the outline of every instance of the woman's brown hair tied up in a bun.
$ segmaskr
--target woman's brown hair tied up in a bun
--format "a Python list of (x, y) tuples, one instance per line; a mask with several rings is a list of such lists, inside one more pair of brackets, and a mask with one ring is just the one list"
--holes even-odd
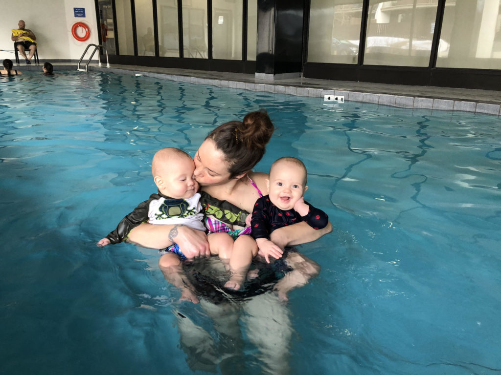
[(205, 139), (211, 139), (229, 162), (230, 178), (247, 172), (261, 160), (275, 127), (266, 110), (250, 112), (240, 121), (217, 126)]

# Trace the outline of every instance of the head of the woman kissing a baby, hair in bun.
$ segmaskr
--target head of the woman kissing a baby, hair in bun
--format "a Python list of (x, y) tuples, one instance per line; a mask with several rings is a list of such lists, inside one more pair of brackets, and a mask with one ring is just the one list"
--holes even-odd
[(275, 127), (265, 110), (217, 126), (195, 154), (195, 177), (201, 185), (241, 178), (261, 160)]

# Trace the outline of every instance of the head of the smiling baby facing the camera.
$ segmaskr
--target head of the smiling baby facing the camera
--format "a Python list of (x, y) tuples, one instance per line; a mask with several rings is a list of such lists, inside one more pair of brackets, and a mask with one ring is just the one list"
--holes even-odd
[(270, 168), (270, 200), (280, 209), (292, 209), (308, 190), (305, 164), (295, 157), (281, 157)]

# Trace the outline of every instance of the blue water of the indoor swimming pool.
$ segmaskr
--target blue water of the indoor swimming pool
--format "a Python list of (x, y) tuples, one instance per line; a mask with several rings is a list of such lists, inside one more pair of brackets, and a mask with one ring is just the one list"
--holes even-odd
[[(193, 155), (215, 125), (260, 107), (278, 129), (256, 169), (301, 158), (307, 199), (334, 227), (299, 247), (322, 270), (280, 311), (290, 373), (501, 371), (497, 117), (101, 72), (26, 73), (0, 89), (3, 372), (264, 371), (248, 310), (228, 342), (177, 301), (154, 250), (95, 246), (155, 190), (158, 148)], [(189, 352), (180, 324), (211, 355)]]

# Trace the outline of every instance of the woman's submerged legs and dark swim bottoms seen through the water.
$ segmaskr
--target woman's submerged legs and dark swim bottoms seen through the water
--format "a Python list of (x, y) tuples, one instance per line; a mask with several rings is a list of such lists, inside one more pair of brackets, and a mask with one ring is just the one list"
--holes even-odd
[[(256, 265), (256, 263), (255, 263)], [(272, 267), (245, 284), (241, 291), (224, 289), (227, 272), (217, 257), (199, 259), (185, 265), (190, 282), (200, 297), (200, 307), (210, 318), (206, 327), (190, 316), (194, 310), (173, 311), (190, 368), (223, 374), (243, 373), (248, 367), (249, 347), (260, 373), (289, 373), (289, 349), (293, 328), (286, 304), (272, 292), (276, 280)], [(208, 324), (207, 324), (208, 323)], [(212, 334), (209, 332), (213, 332)], [(245, 340), (244, 340), (245, 337)]]

